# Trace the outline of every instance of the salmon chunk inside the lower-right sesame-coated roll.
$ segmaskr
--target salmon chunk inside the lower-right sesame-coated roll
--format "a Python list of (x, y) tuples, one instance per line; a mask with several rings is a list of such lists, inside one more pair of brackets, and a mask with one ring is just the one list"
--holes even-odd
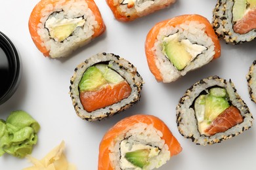
[(243, 118), (240, 111), (236, 107), (230, 106), (211, 122), (211, 125), (205, 129), (205, 133), (215, 135), (216, 133), (224, 132), (242, 122)]

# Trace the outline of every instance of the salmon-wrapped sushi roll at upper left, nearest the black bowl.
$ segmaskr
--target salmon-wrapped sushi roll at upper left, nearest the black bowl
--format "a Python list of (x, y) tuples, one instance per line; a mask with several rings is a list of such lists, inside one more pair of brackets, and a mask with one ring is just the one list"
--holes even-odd
[(28, 26), (35, 46), (51, 58), (69, 56), (106, 29), (93, 0), (41, 0)]

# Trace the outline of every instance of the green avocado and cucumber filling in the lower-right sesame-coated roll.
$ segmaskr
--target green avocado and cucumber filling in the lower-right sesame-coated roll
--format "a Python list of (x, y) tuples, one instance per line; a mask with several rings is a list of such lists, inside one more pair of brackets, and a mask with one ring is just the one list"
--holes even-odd
[(204, 130), (223, 112), (230, 107), (228, 94), (224, 88), (211, 88), (207, 94), (197, 97), (194, 102), (198, 130), (203, 135)]

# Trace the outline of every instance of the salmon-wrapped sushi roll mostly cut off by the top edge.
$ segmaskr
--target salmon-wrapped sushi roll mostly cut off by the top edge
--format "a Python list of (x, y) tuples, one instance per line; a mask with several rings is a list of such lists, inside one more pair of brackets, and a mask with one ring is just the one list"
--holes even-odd
[(117, 20), (133, 21), (156, 10), (169, 7), (176, 0), (106, 0)]

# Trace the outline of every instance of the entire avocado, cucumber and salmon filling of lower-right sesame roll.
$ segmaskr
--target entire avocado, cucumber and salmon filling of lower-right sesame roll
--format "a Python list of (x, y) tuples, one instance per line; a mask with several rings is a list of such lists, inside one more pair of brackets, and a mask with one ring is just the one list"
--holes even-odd
[(213, 86), (201, 92), (196, 97), (193, 105), (198, 122), (198, 131), (200, 131), (201, 135), (210, 136), (226, 131), (226, 127), (223, 127), (223, 129), (217, 129), (213, 133), (209, 132), (209, 128), (215, 128), (215, 126), (223, 123), (220, 116), (224, 117), (224, 119), (228, 116), (227, 114), (234, 114), (236, 116), (236, 123), (229, 124), (228, 129), (243, 121), (240, 111), (232, 106), (232, 103), (229, 101), (226, 89), (219, 86)]

